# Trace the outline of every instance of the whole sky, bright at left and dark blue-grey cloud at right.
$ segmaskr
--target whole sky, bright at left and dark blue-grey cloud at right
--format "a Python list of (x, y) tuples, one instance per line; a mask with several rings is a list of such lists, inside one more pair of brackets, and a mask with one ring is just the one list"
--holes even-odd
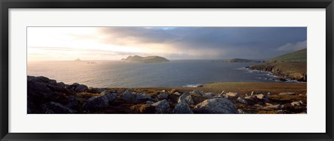
[(28, 61), (262, 60), (306, 48), (306, 27), (28, 27)]

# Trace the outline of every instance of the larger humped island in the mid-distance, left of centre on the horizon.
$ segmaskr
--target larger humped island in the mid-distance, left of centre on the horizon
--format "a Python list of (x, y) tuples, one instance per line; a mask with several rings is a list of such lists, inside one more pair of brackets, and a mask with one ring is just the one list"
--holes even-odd
[(162, 63), (168, 62), (169, 60), (160, 56), (128, 56), (127, 58), (122, 58), (125, 61), (132, 61), (132, 62), (142, 62), (142, 63)]

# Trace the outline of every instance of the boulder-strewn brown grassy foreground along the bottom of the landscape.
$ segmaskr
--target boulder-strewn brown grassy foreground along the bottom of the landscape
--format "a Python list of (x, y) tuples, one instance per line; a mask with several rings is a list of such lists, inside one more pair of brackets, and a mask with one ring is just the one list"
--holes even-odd
[[(249, 83), (251, 84), (251, 83)], [(249, 85), (246, 83), (246, 85)], [(306, 93), (273, 93), (241, 90), (227, 92), (217, 86), (205, 88), (88, 88), (57, 83), (43, 76), (28, 76), (29, 114), (255, 114), (306, 113)], [(266, 83), (254, 83), (264, 85)], [(269, 84), (276, 85), (276, 84)], [(240, 86), (240, 85), (239, 85)], [(214, 87), (214, 88), (210, 88)], [(277, 86), (275, 86), (277, 88)], [(298, 87), (303, 87), (299, 85)], [(227, 88), (228, 89), (228, 88)], [(299, 89), (299, 88), (298, 88)], [(211, 90), (211, 91), (210, 91)], [(280, 89), (279, 89), (280, 90)], [(294, 90), (285, 88), (284, 90)], [(241, 92), (241, 93), (239, 93)]]

